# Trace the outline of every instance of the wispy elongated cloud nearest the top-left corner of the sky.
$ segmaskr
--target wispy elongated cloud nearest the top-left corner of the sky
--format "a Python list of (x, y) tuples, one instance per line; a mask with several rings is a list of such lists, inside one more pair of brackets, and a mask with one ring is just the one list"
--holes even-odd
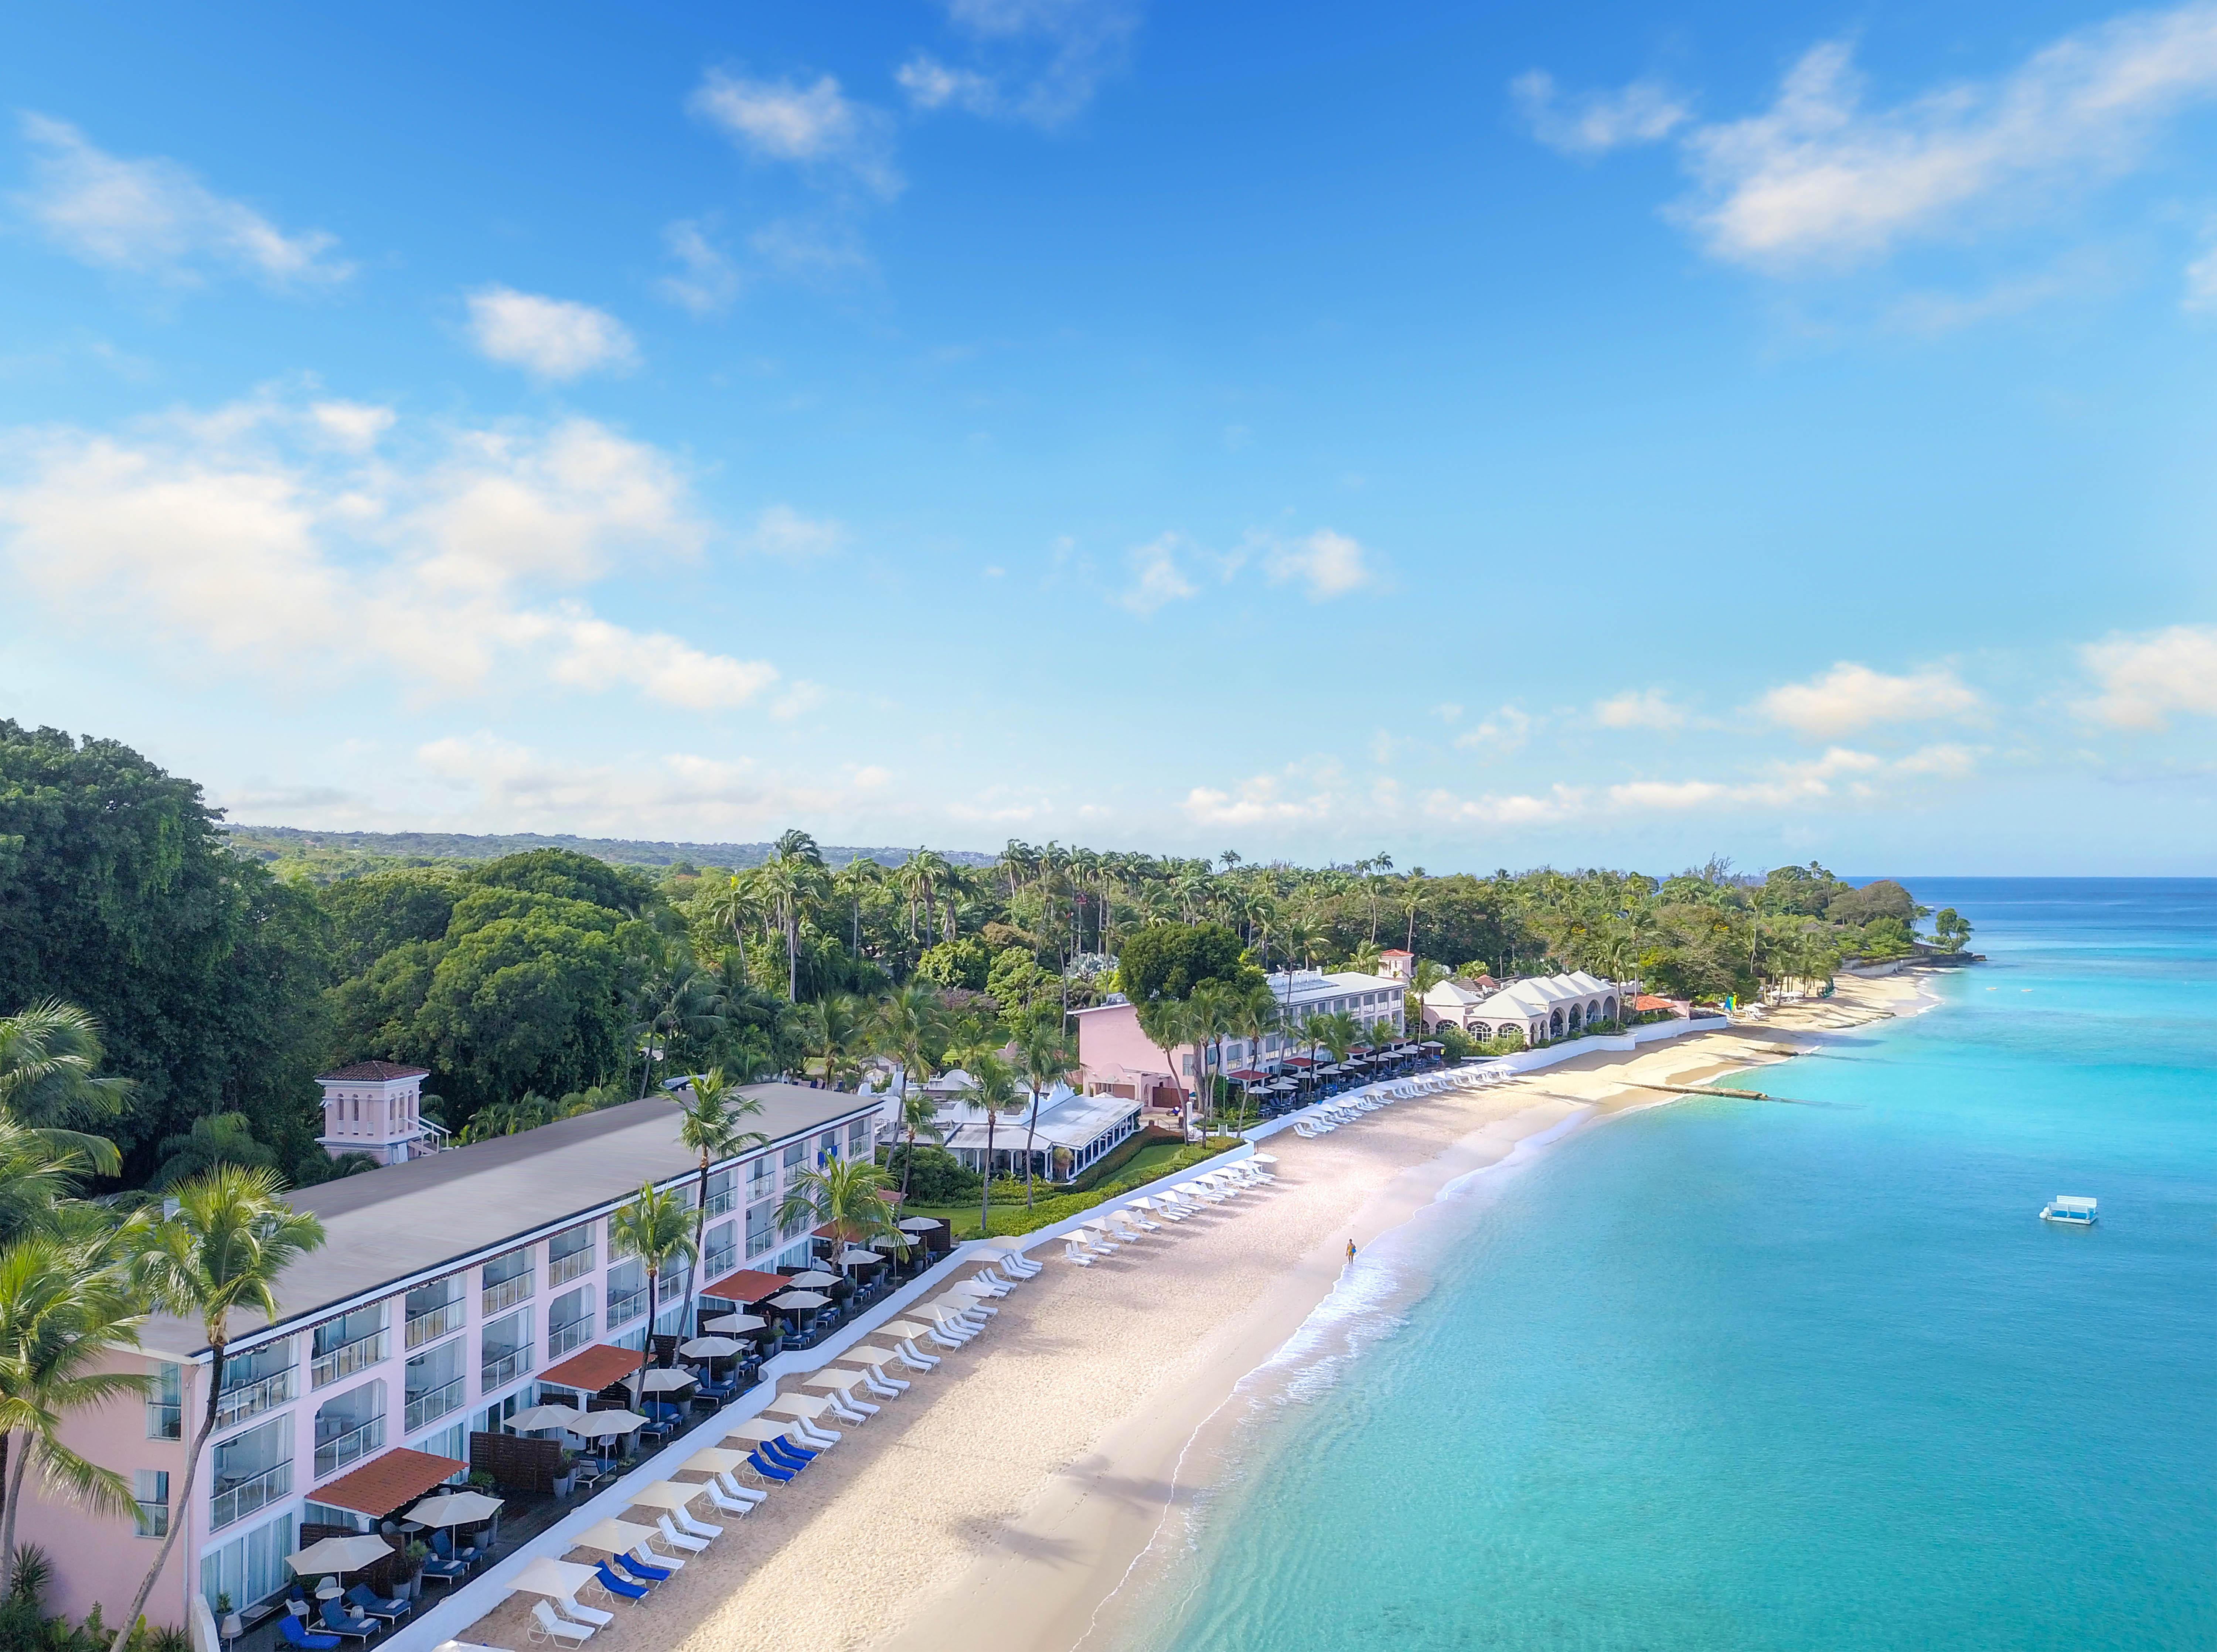
[(286, 233), (244, 202), (213, 193), (160, 155), (124, 160), (49, 115), (22, 115), (31, 188), (16, 206), (64, 253), (100, 268), (197, 286), (211, 268), (273, 288), (328, 286), (353, 275), (326, 231)]

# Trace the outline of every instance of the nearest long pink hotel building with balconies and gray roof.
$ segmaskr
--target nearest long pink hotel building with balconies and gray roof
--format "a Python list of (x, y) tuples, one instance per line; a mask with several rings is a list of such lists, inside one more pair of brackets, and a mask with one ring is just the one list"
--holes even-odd
[[(676, 1104), (656, 1095), (426, 1151), (423, 1073), (366, 1067), (381, 1071), (324, 1080), (324, 1142), (384, 1166), (290, 1195), (328, 1237), (279, 1282), (277, 1319), (237, 1324), (222, 1373), (208, 1368), (197, 1324), (155, 1319), (142, 1350), (118, 1357), (153, 1377), (146, 1399), (64, 1424), (73, 1450), (133, 1483), (137, 1519), (93, 1517), (24, 1481), (16, 1541), (53, 1559), (53, 1610), (84, 1617), (98, 1601), (120, 1612), (168, 1521), (184, 1521), (146, 1619), (182, 1628), (197, 1590), (211, 1612), (228, 1594), (253, 1621), (290, 1585), (284, 1557), (302, 1523), (377, 1530), (468, 1475), (472, 1432), (497, 1432), (563, 1377), (603, 1370), (596, 1344), (645, 1346), (645, 1275), (638, 1257), (610, 1251), (607, 1217), (643, 1182), (687, 1200), (696, 1191)], [(709, 1169), (703, 1266), (661, 1279), (658, 1333), (689, 1328), (703, 1288), (738, 1268), (807, 1262), (807, 1228), (776, 1224), (785, 1184), (825, 1153), (873, 1146), (878, 1095), (800, 1084), (747, 1093), (763, 1102), (756, 1129), (769, 1144)], [(219, 1384), (217, 1426), (180, 1506), (173, 1488), (184, 1486), (208, 1381)], [(574, 1390), (559, 1397), (583, 1404)]]

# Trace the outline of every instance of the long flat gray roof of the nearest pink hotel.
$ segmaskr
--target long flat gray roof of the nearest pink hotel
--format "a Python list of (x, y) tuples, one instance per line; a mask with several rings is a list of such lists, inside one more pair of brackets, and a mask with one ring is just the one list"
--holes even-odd
[[(876, 1111), (882, 1095), (809, 1089), (807, 1084), (747, 1084), (763, 1111), (749, 1120), (772, 1144), (811, 1135), (849, 1113)], [(754, 1149), (749, 1149), (752, 1155)], [(678, 1107), (667, 1095), (607, 1107), (599, 1113), (541, 1124), (492, 1142), (386, 1164), (293, 1191), (295, 1211), (324, 1222), (324, 1248), (310, 1251), (277, 1282), (277, 1322), (321, 1317), (379, 1286), (437, 1275), (448, 1264), (499, 1251), (508, 1240), (563, 1226), (603, 1204), (698, 1171), (698, 1155), (678, 1142)], [(233, 1335), (262, 1328), (259, 1315), (239, 1319)], [(144, 1333), (149, 1350), (204, 1353), (200, 1326), (157, 1315)]]

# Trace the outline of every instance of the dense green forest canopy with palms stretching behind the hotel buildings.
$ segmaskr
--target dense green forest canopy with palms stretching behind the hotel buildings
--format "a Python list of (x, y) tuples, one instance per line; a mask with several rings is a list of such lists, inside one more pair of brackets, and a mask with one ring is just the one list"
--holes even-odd
[[(428, 1067), (437, 1115), (490, 1135), (712, 1067), (849, 1075), (885, 1047), (871, 1007), (909, 985), (978, 1047), (1060, 1031), (1117, 989), (1184, 1000), (1257, 969), (1370, 969), (1386, 947), (1419, 956), (1419, 987), (1592, 969), (1723, 998), (1902, 956), (1924, 916), (1896, 883), (1818, 865), (1432, 876), (1386, 854), (1293, 867), (1024, 843), (834, 865), (800, 832), (732, 865), (412, 856), (348, 834), (341, 865), (266, 856), (266, 836), (126, 745), (0, 721), (0, 1016), (93, 1016), (102, 1071), (126, 1080), (102, 1122), (122, 1184), (215, 1162), (344, 1173), (315, 1142), (313, 1080), (364, 1058)], [(1955, 925), (1940, 914), (1944, 945), (1966, 938)]]

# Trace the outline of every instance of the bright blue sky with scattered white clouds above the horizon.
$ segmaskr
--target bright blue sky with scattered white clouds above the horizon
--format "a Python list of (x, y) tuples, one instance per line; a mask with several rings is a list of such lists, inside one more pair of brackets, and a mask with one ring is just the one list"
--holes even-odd
[(0, 710), (239, 820), (2217, 871), (2217, 7), (4, 47)]

